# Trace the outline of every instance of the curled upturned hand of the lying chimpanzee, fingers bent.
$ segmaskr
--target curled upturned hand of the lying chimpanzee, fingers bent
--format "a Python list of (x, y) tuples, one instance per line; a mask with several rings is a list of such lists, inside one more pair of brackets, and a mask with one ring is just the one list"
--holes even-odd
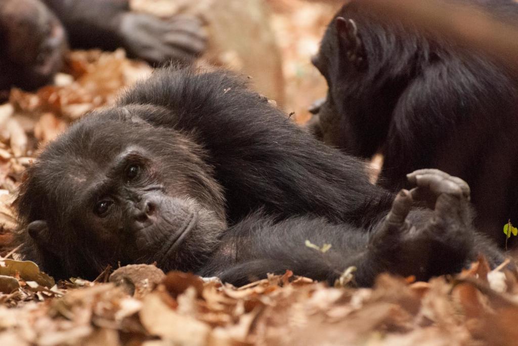
[[(387, 270), (417, 279), (460, 271), (477, 255), (468, 184), (437, 169), (407, 177), (416, 187), (398, 193), (370, 240), (370, 254)], [(433, 211), (412, 212), (414, 202)]]

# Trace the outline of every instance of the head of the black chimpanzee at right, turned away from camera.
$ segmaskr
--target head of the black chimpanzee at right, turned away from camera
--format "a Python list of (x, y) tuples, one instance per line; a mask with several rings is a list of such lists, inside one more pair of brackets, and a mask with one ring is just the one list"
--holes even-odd
[(415, 74), (426, 40), (397, 19), (352, 1), (328, 25), (312, 63), (325, 77), (326, 100), (310, 124), (330, 145), (370, 158), (385, 139), (394, 107)]

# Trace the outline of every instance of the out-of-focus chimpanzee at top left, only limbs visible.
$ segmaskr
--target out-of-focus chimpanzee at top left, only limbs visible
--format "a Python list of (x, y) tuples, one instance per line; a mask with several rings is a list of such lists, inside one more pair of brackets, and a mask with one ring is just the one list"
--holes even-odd
[(161, 20), (130, 11), (127, 0), (0, 2), (0, 90), (51, 81), (67, 48), (125, 48), (150, 63), (190, 61), (205, 49), (199, 20)]

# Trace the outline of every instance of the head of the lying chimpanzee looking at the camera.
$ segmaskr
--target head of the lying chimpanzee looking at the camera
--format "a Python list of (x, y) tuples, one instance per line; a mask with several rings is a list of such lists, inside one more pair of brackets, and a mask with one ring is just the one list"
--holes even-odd
[(189, 134), (126, 106), (96, 111), (50, 143), (17, 199), (20, 252), (58, 278), (106, 265), (195, 270), (226, 229), (224, 197)]

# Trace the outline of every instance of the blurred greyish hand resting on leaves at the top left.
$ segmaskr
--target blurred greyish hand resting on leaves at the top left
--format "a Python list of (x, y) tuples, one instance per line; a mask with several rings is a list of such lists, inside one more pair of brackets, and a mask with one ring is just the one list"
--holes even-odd
[(202, 22), (190, 16), (162, 20), (145, 13), (124, 12), (120, 34), (128, 55), (152, 64), (169, 60), (189, 62), (206, 48)]

